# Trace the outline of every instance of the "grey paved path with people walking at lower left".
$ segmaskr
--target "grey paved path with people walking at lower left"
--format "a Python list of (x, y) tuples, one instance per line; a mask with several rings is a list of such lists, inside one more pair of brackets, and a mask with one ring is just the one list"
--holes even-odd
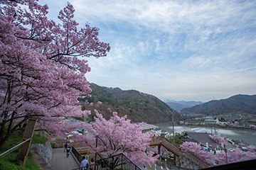
[(72, 154), (66, 157), (64, 148), (53, 149), (53, 158), (51, 168), (53, 170), (72, 170), (79, 168), (78, 164), (75, 162)]

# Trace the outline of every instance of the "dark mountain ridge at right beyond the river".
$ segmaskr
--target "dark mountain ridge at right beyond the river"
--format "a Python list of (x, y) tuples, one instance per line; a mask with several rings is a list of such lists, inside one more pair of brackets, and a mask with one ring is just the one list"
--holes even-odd
[(227, 115), (236, 113), (256, 114), (256, 95), (239, 94), (181, 110), (181, 114)]

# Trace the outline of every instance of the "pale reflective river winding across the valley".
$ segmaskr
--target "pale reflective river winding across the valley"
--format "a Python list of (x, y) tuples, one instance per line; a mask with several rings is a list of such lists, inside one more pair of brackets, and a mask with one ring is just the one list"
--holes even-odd
[[(170, 134), (172, 133), (171, 123), (158, 123), (155, 124), (160, 129), (166, 130)], [(174, 132), (183, 131), (195, 131), (195, 132), (208, 132), (216, 133), (220, 137), (228, 137), (230, 140), (241, 140), (247, 145), (256, 145), (256, 130), (238, 129), (238, 128), (210, 128), (196, 125), (174, 125)]]

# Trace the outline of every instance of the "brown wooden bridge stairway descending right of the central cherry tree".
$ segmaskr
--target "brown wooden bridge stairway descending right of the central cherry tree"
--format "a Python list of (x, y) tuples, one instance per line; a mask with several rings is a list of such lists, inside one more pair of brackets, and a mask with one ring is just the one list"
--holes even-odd
[(149, 142), (149, 146), (158, 146), (159, 147), (159, 154), (160, 154), (160, 147), (165, 147), (167, 150), (172, 152), (175, 155), (176, 159), (176, 166), (181, 166), (183, 168), (189, 168), (189, 165), (198, 166), (198, 168), (208, 168), (210, 164), (205, 162), (204, 160), (199, 159), (198, 157), (189, 154), (188, 152), (183, 152), (178, 145), (174, 142), (166, 140), (164, 138), (154, 138)]

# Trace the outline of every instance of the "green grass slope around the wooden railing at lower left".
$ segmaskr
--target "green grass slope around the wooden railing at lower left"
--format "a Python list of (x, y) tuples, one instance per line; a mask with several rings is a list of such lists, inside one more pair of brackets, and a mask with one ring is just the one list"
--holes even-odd
[[(1, 153), (22, 142), (22, 137), (23, 135), (18, 135), (18, 133), (11, 135), (9, 140), (1, 149)], [(44, 135), (36, 134), (35, 132), (32, 140), (32, 144), (33, 143), (46, 144), (46, 137)], [(16, 149), (14, 152), (7, 154), (5, 157), (0, 159), (0, 170), (40, 170), (40, 167), (36, 164), (31, 152), (28, 152), (26, 164), (25, 166), (22, 166), (21, 163), (16, 160), (18, 150), (19, 149)]]

